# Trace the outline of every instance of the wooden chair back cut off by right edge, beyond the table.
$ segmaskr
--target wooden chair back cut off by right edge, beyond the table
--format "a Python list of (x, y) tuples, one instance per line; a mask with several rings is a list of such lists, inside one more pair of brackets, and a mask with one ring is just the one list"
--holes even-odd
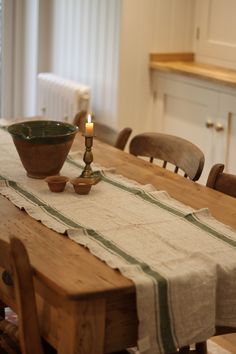
[(212, 166), (206, 185), (236, 198), (236, 175), (224, 173), (223, 171), (223, 164), (218, 163)]

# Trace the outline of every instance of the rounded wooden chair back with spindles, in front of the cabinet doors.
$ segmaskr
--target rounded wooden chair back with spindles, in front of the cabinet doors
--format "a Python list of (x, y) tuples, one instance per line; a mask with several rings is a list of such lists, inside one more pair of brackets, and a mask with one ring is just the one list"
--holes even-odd
[(188, 140), (177, 136), (162, 133), (142, 133), (133, 137), (129, 151), (135, 156), (149, 157), (175, 166), (175, 173), (179, 169), (184, 172), (184, 177), (197, 181), (201, 176), (205, 158), (203, 152)]

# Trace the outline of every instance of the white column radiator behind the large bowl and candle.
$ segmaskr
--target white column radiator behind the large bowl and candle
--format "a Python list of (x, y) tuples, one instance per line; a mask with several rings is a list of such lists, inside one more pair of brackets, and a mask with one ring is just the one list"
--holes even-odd
[(90, 88), (52, 73), (38, 74), (37, 114), (72, 122), (76, 113), (90, 110)]

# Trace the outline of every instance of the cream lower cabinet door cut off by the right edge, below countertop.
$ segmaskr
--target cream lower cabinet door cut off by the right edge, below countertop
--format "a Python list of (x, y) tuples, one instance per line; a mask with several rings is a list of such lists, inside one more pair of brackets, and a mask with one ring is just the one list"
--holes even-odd
[(225, 170), (236, 174), (236, 96), (220, 95), (220, 114), (226, 129)]

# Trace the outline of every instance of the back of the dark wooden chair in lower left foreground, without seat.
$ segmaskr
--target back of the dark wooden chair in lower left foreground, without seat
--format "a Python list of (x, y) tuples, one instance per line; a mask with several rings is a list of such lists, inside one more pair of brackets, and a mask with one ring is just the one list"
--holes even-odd
[(0, 239), (0, 268), (3, 282), (13, 286), (19, 321), (22, 354), (43, 354), (35, 292), (33, 269), (24, 244), (16, 237), (10, 244)]

